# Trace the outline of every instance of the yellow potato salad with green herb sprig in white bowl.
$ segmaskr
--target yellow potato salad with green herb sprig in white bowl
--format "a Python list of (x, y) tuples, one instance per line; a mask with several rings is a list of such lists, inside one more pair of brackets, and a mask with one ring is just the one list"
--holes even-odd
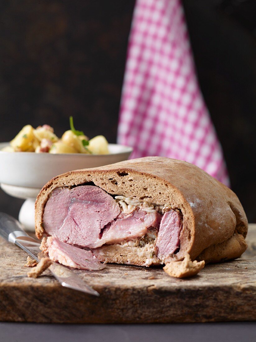
[(73, 117), (69, 118), (70, 130), (59, 139), (49, 125), (36, 129), (26, 125), (2, 151), (35, 153), (87, 153), (108, 154), (108, 142), (103, 135), (89, 139), (82, 131), (77, 131)]

